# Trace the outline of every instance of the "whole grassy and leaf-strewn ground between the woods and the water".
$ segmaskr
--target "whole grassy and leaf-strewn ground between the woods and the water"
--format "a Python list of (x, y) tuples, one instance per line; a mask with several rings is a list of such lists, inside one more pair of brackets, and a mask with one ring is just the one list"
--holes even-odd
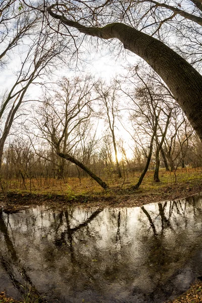
[(58, 179), (32, 180), (31, 194), (29, 180), (25, 189), (18, 180), (9, 181), (7, 199), (0, 193), (0, 200), (7, 204), (5, 211), (15, 212), (25, 205), (46, 204), (57, 209), (64, 208), (67, 203), (79, 204), (79, 207), (135, 207), (162, 200), (174, 200), (202, 191), (202, 168), (178, 169), (177, 182), (174, 174), (160, 170), (161, 182), (153, 181), (153, 171), (148, 171), (138, 190), (132, 188), (140, 173), (129, 174), (125, 179), (105, 180), (109, 189), (104, 190), (94, 180), (84, 177), (68, 178), (67, 183)]

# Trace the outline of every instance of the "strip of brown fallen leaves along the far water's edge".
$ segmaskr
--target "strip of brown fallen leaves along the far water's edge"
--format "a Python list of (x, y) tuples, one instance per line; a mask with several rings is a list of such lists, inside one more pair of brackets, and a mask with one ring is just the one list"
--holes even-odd
[[(57, 208), (58, 210), (67, 207), (68, 205), (76, 205), (79, 208), (91, 207), (136, 207), (148, 203), (160, 202), (163, 200), (175, 200), (194, 195), (202, 191), (201, 181), (181, 183), (177, 185), (164, 186), (161, 188), (153, 188), (150, 190), (142, 189), (111, 189), (103, 191), (102, 194), (85, 194), (75, 195), (74, 198), (65, 194), (22, 194), (10, 192), (8, 194), (9, 205), (2, 201), (5, 213), (15, 213), (29, 206), (48, 205), (49, 207)], [(0, 196), (1, 200), (1, 196)], [(1, 207), (1, 201), (0, 201)], [(0, 302), (1, 303), (1, 302)]]

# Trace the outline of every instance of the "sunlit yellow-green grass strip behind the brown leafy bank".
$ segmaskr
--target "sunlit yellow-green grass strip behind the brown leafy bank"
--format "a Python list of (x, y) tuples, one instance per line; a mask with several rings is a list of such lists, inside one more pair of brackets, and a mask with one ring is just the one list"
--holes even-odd
[[(128, 190), (132, 185), (136, 184), (141, 172), (127, 173), (125, 180), (123, 178), (118, 178), (116, 175), (113, 175), (113, 178), (105, 181), (109, 184), (110, 189), (105, 191), (100, 187), (93, 179), (89, 177), (79, 178), (68, 178), (66, 182), (63, 180), (58, 180), (50, 178), (45, 179), (32, 179), (31, 181), (31, 193), (33, 194), (46, 194), (50, 198), (52, 195), (62, 194), (65, 195), (68, 199), (74, 199), (77, 195), (90, 195), (90, 196), (99, 196), (105, 195), (112, 196), (113, 191), (118, 189)], [(150, 170), (146, 173), (142, 184), (138, 192), (142, 193), (155, 193), (158, 194), (158, 191), (165, 187), (173, 187), (175, 183), (175, 176), (173, 172), (167, 172), (165, 169), (160, 170), (160, 180), (161, 182), (154, 182), (153, 176), (154, 171)], [(187, 183), (189, 187), (196, 182), (200, 182), (202, 178), (202, 168), (179, 168), (176, 171), (177, 182), (176, 185)], [(10, 182), (10, 191), (15, 191), (21, 194), (26, 194), (30, 192), (30, 181), (26, 181), (26, 189), (20, 186), (19, 182), (12, 180)]]

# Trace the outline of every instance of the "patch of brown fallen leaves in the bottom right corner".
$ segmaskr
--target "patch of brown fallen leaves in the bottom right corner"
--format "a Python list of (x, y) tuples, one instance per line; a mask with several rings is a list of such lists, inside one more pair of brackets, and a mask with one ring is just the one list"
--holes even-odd
[(199, 303), (202, 302), (202, 282), (193, 284), (183, 295), (168, 303)]

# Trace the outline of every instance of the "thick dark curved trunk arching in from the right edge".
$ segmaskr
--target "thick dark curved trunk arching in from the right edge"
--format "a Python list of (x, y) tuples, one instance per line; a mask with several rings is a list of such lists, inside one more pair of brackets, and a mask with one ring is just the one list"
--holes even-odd
[(165, 81), (189, 122), (202, 140), (202, 76), (181, 56), (163, 42), (123, 23), (111, 23), (104, 27), (86, 27), (76, 21), (48, 13), (63, 24), (80, 32), (102, 39), (119, 39), (126, 49), (144, 59)]

